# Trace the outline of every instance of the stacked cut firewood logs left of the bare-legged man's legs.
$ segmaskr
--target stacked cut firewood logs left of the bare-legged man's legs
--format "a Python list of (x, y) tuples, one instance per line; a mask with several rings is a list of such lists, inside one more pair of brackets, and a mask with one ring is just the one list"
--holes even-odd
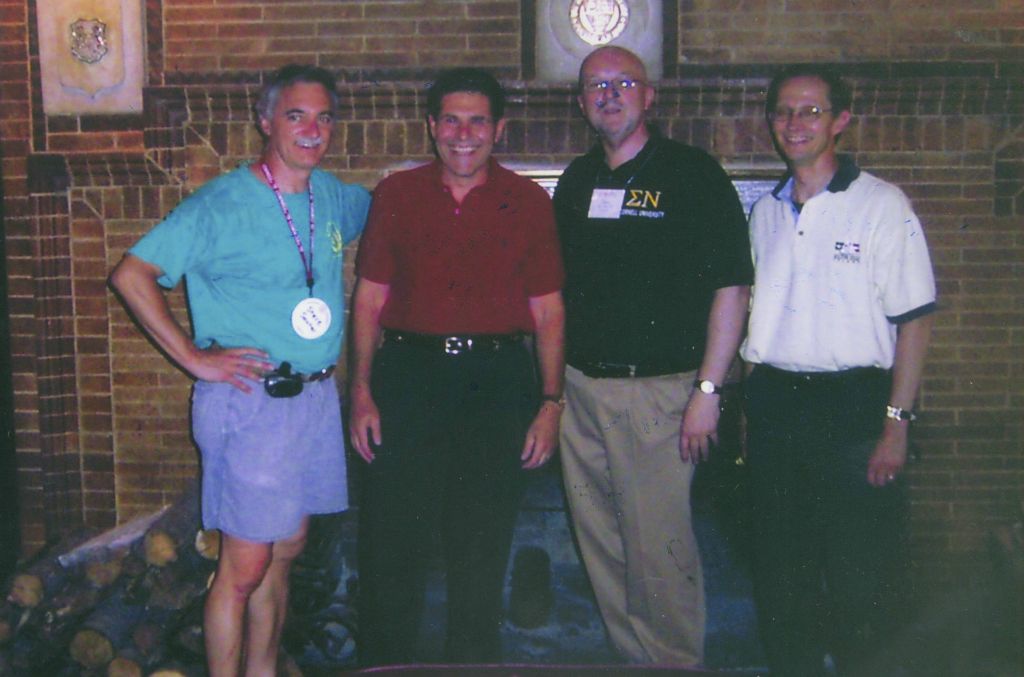
[[(196, 488), (101, 535), (75, 534), (6, 584), (0, 674), (203, 674), (202, 605), (219, 535), (200, 532)], [(182, 641), (193, 634), (196, 642)]]

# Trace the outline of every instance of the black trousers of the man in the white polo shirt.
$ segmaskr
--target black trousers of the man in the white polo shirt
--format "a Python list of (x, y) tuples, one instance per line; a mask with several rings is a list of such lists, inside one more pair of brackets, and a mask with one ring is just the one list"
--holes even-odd
[[(867, 482), (890, 376), (802, 377), (759, 366), (745, 383), (759, 630), (773, 677), (878, 666), (904, 590), (905, 489)], [(872, 667), (872, 675), (882, 675)]]

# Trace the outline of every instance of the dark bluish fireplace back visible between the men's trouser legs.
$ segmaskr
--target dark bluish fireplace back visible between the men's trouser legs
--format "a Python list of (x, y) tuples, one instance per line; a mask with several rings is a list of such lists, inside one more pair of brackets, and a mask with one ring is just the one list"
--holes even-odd
[[(509, 665), (497, 673), (484, 670), (479, 674), (537, 674), (524, 673), (524, 665), (535, 668), (586, 666), (581, 668), (583, 672), (562, 669), (559, 675), (640, 674), (635, 668), (621, 665), (607, 643), (590, 584), (577, 556), (560, 482), (556, 466), (538, 474), (523, 502), (512, 546), (513, 559), (523, 547), (541, 547), (550, 556), (554, 592), (552, 611), (546, 623), (532, 629), (517, 628), (506, 622), (503, 630), (505, 660), (508, 664), (517, 665)], [(708, 597), (707, 667), (751, 671), (749, 674), (763, 672), (758, 670), (764, 665), (764, 659), (756, 636), (750, 580), (738, 550), (742, 543), (740, 528), (734, 516), (728, 514), (730, 502), (736, 497), (730, 496), (728, 488), (724, 493), (721, 486), (714, 492), (702, 491), (699, 482), (698, 477), (694, 488), (694, 520), (701, 546)], [(341, 519), (345, 532), (354, 536), (354, 510)], [(343, 580), (354, 574), (354, 544), (350, 543), (351, 540), (346, 539), (349, 543), (344, 547), (344, 561), (340, 565)], [(441, 660), (443, 598), (443, 574), (438, 561), (427, 584), (426, 613), (419, 642), (419, 654), (425, 664), (437, 664)], [(346, 647), (345, 659), (348, 661), (352, 658), (351, 650), (351, 645)], [(323, 657), (315, 650), (308, 650), (305, 655), (297, 658), (307, 675), (343, 674), (338, 670), (342, 666), (324, 663)], [(426, 668), (420, 670), (394, 674), (444, 674), (441, 667), (431, 669), (441, 672), (422, 672)], [(697, 673), (675, 671), (671, 674)]]

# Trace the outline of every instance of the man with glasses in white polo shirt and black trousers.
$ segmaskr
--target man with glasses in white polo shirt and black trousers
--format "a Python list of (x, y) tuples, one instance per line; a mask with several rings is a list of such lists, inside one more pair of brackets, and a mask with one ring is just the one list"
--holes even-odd
[[(740, 354), (755, 597), (772, 674), (864, 674), (897, 618), (907, 428), (935, 310), (925, 236), (896, 186), (837, 156), (849, 89), (780, 73), (766, 118), (788, 171), (751, 214)], [(873, 673), (878, 674), (878, 673)]]

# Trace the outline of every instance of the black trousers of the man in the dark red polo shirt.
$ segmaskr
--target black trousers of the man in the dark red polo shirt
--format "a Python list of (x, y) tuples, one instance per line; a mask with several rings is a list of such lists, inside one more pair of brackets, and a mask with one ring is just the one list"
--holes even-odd
[(446, 355), (385, 343), (374, 361), (382, 445), (359, 498), (359, 657), (417, 660), (434, 535), (446, 566), (444, 658), (501, 660), (502, 596), (525, 489), (519, 455), (538, 411), (519, 344)]

